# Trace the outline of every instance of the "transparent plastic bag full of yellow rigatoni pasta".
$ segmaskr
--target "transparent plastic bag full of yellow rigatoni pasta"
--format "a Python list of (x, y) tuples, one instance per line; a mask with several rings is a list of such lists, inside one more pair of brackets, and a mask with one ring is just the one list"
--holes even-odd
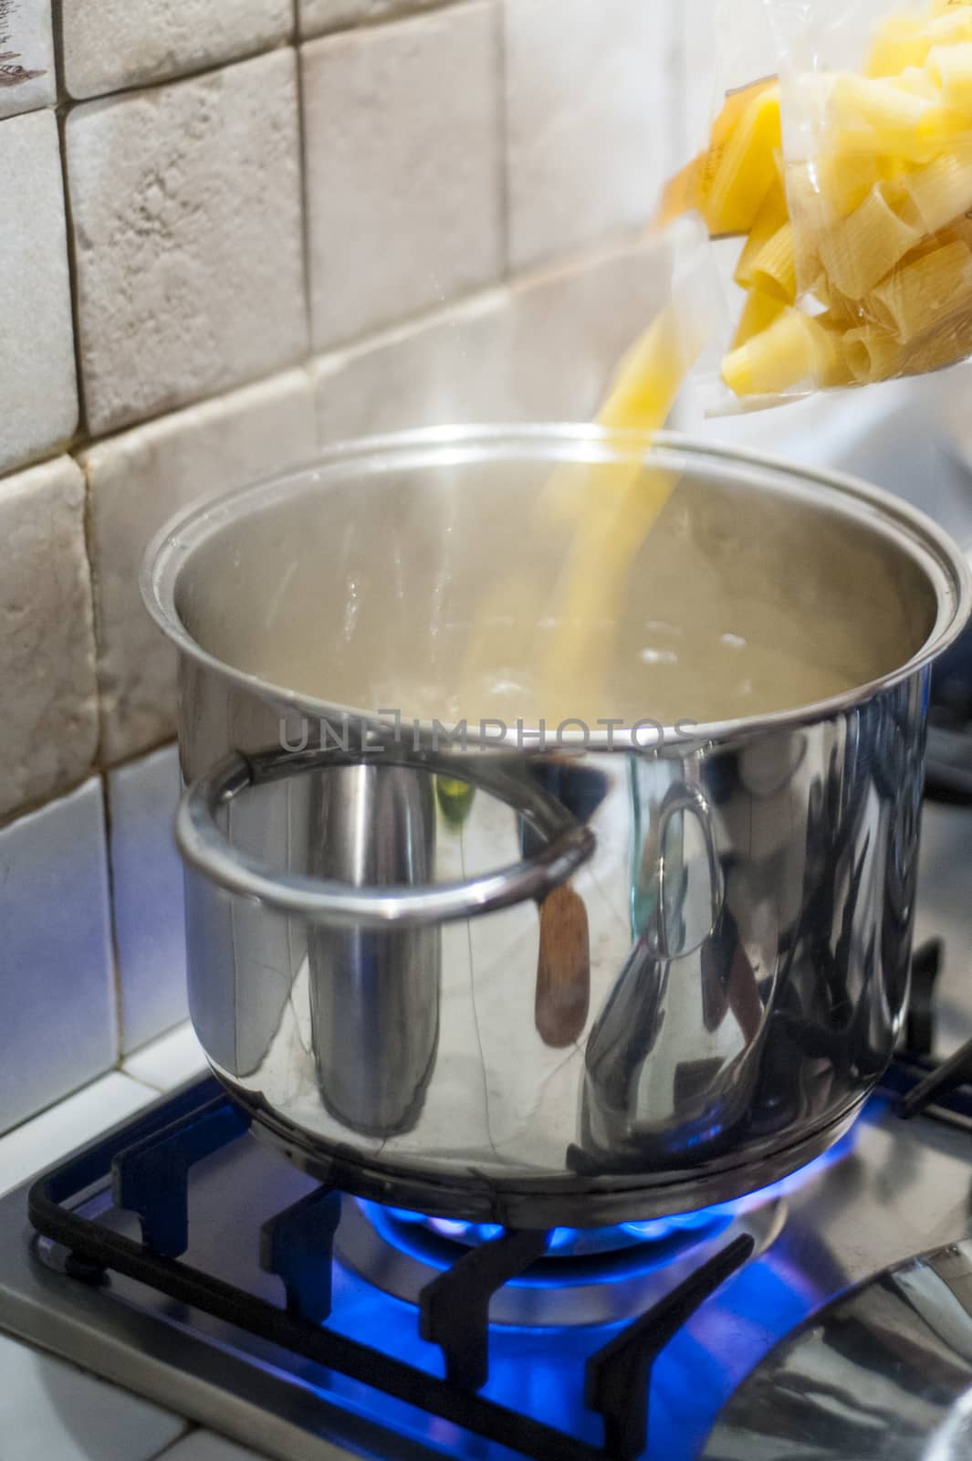
[(775, 67), (724, 95), (661, 209), (731, 245), (708, 409), (968, 358), (972, 0), (760, 4)]

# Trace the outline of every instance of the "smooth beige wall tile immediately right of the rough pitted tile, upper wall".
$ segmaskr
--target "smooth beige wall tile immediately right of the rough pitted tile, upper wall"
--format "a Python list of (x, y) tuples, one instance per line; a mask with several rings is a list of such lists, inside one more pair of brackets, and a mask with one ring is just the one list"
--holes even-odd
[(501, 273), (495, 22), (482, 0), (304, 47), (318, 349)]

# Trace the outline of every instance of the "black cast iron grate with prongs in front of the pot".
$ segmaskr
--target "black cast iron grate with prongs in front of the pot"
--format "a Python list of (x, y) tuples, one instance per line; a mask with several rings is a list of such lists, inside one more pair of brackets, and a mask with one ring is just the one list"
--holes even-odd
[[(64, 1270), (77, 1280), (98, 1284), (111, 1271), (126, 1274), (534, 1461), (635, 1461), (648, 1441), (654, 1360), (756, 1246), (750, 1233), (737, 1233), (590, 1356), (578, 1384), (588, 1408), (603, 1419), (604, 1445), (597, 1448), (479, 1394), (489, 1375), (490, 1299), (544, 1256), (549, 1233), (506, 1229), (468, 1248), (422, 1289), (419, 1331), (442, 1350), (445, 1379), (327, 1328), (342, 1208), (340, 1194), (330, 1188), (312, 1191), (261, 1229), (261, 1268), (282, 1280), (286, 1308), (181, 1261), (188, 1246), (190, 1170), (247, 1128), (247, 1116), (217, 1083), (200, 1081), (41, 1178), (29, 1194), (31, 1221), (66, 1249)], [(108, 1178), (115, 1207), (137, 1214), (142, 1242), (67, 1205)]]

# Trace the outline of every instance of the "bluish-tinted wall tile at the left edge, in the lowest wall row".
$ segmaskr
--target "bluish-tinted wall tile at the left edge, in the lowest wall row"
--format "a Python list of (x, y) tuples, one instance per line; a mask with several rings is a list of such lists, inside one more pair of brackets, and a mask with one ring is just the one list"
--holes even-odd
[(101, 782), (0, 830), (0, 1131), (115, 1062)]

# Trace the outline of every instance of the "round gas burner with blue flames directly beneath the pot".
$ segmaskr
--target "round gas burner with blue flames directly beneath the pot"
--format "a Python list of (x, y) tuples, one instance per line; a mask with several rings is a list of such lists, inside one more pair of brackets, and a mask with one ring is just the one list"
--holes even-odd
[[(768, 1189), (740, 1202), (649, 1223), (558, 1227), (544, 1255), (493, 1294), (490, 1322), (517, 1328), (616, 1324), (644, 1313), (670, 1287), (680, 1262), (705, 1261), (717, 1240), (722, 1246), (746, 1233), (756, 1252), (763, 1252), (784, 1216), (779, 1194)], [(464, 1252), (502, 1232), (492, 1223), (347, 1201), (334, 1256), (385, 1293), (417, 1305), (422, 1290)]]

